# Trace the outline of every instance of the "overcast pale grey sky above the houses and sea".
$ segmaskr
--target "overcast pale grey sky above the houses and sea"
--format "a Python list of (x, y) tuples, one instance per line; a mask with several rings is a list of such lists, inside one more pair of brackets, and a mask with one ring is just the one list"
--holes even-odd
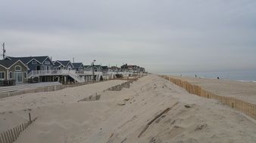
[(8, 56), (96, 59), (158, 73), (250, 69), (256, 1), (1, 0), (0, 42)]

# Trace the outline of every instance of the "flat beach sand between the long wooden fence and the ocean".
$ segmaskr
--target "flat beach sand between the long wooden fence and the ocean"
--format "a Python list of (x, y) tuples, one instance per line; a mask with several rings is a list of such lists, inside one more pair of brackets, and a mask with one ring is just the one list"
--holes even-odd
[(191, 78), (171, 76), (172, 78), (189, 81), (190, 84), (195, 84), (202, 87), (204, 90), (208, 90), (211, 93), (215, 93), (219, 96), (236, 97), (247, 102), (256, 104), (256, 83), (249, 81), (229, 81), (229, 80), (217, 80), (208, 78)]

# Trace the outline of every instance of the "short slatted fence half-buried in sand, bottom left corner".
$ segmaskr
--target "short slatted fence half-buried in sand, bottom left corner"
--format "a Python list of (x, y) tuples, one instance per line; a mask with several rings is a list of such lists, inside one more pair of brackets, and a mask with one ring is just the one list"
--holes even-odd
[(12, 129), (9, 129), (6, 132), (1, 132), (0, 134), (0, 143), (13, 143), (17, 140), (20, 133), (27, 129), (33, 122), (37, 120), (35, 117), (33, 120), (31, 119), (31, 115), (29, 113), (29, 120), (26, 123), (21, 123), (19, 126), (16, 126)]

